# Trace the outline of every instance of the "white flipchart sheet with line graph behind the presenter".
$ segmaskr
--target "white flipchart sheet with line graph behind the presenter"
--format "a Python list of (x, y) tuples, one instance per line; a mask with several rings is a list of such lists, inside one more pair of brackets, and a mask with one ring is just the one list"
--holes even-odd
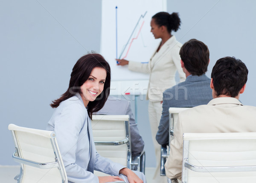
[(148, 80), (148, 74), (117, 66), (115, 59), (149, 61), (160, 43), (150, 32), (151, 17), (166, 7), (166, 0), (102, 0), (100, 53), (110, 63), (111, 80)]

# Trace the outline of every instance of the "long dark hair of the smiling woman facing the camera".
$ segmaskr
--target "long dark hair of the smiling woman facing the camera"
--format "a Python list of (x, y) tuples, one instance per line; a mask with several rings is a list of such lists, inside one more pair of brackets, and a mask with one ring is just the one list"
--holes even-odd
[(76, 93), (81, 94), (80, 87), (85, 81), (87, 81), (90, 73), (96, 67), (105, 69), (107, 72), (107, 77), (102, 93), (94, 101), (89, 102), (87, 105), (88, 115), (90, 118), (92, 118), (93, 112), (98, 112), (100, 109), (102, 109), (110, 93), (110, 66), (100, 54), (86, 54), (77, 60), (71, 72), (70, 83), (67, 91), (62, 94), (59, 99), (52, 101), (50, 106), (52, 108), (56, 108), (62, 101), (73, 97)]

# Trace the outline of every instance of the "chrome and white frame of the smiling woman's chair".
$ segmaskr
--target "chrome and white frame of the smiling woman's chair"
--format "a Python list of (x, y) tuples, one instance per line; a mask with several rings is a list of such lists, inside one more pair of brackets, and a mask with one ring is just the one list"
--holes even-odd
[[(10, 127), (13, 127), (13, 124), (9, 125)], [(15, 125), (16, 126), (16, 125)], [(27, 129), (24, 127), (19, 127), (22, 129)], [(64, 168), (64, 164), (61, 162), (61, 154), (58, 153), (58, 145), (56, 143), (56, 134), (55, 132), (51, 133), (51, 137), (50, 137), (50, 141), (52, 144), (52, 148), (55, 154), (55, 162), (49, 162), (49, 163), (40, 163), (40, 162), (35, 162), (32, 160), (27, 160), (24, 159), (22, 157), (20, 157), (20, 145), (18, 143), (18, 137), (17, 134), (15, 133), (16, 130), (12, 130), (10, 129), (11, 133), (12, 133), (12, 138), (14, 140), (15, 143), (15, 152), (12, 154), (12, 158), (15, 162), (20, 163), (20, 174), (18, 174), (17, 176), (15, 176), (15, 180), (17, 180), (18, 183), (21, 183), (21, 181), (23, 180), (23, 171), (24, 171), (24, 165), (28, 165), (28, 166), (33, 166), (39, 169), (51, 169), (51, 168), (55, 168), (57, 167), (60, 171), (61, 174), (61, 179), (62, 179), (62, 183), (67, 183), (67, 175), (66, 175), (66, 171)]]

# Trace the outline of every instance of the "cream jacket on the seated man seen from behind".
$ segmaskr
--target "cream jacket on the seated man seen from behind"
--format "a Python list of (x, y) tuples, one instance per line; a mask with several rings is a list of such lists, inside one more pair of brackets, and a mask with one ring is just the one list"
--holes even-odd
[(183, 133), (256, 132), (256, 107), (243, 106), (233, 97), (212, 99), (180, 112), (166, 160), (166, 176), (181, 179)]

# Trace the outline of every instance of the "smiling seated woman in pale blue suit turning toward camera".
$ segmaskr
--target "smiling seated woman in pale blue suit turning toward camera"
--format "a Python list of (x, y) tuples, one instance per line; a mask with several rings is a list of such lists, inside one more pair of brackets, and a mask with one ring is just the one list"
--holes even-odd
[[(141, 172), (133, 172), (96, 152), (91, 117), (108, 98), (110, 78), (110, 66), (100, 54), (84, 55), (73, 67), (67, 91), (51, 103), (56, 109), (47, 130), (57, 134), (69, 183), (146, 182)], [(97, 177), (93, 170), (116, 176)]]

